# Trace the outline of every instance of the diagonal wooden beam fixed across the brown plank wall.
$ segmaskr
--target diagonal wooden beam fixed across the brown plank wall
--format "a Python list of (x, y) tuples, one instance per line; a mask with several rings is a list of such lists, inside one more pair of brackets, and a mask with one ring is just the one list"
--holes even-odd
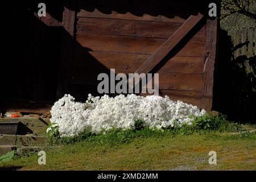
[(162, 59), (170, 52), (174, 47), (182, 40), (185, 35), (204, 17), (202, 14), (191, 15), (189, 18), (179, 27), (178, 30), (170, 36), (148, 59), (135, 71), (135, 73), (149, 73), (152, 69), (160, 63)]

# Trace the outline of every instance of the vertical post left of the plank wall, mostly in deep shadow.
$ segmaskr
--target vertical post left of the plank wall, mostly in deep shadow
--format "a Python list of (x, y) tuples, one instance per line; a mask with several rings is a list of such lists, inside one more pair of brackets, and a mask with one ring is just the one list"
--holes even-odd
[(71, 85), (73, 38), (75, 31), (76, 0), (64, 0), (63, 32), (61, 38), (61, 63), (57, 81), (56, 97), (69, 92)]

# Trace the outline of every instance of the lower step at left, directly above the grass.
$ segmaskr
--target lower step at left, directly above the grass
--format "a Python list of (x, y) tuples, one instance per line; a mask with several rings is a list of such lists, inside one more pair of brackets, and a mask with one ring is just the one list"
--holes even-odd
[(43, 146), (47, 137), (36, 135), (0, 135), (2, 146)]

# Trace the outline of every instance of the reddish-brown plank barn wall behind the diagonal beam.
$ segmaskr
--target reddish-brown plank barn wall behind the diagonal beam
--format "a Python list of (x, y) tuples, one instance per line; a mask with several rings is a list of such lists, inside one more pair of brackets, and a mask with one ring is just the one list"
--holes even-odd
[[(78, 3), (71, 88), (81, 100), (97, 94), (99, 73), (134, 73), (197, 10), (187, 1), (104, 2)], [(201, 105), (206, 36), (203, 21), (158, 68), (161, 96)]]

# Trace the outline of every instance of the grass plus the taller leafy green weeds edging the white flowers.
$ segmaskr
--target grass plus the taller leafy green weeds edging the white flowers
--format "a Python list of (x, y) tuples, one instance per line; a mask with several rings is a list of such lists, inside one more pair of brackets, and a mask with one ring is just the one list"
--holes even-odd
[[(214, 121), (214, 123), (212, 123)], [(192, 126), (164, 131), (136, 125), (106, 134), (88, 131), (74, 138), (49, 139), (60, 148), (46, 150), (46, 165), (36, 154), (0, 162), (19, 170), (256, 170), (254, 125), (226, 122), (220, 116), (195, 119)], [(250, 132), (249, 132), (250, 130)], [(209, 151), (217, 165), (209, 165)]]

